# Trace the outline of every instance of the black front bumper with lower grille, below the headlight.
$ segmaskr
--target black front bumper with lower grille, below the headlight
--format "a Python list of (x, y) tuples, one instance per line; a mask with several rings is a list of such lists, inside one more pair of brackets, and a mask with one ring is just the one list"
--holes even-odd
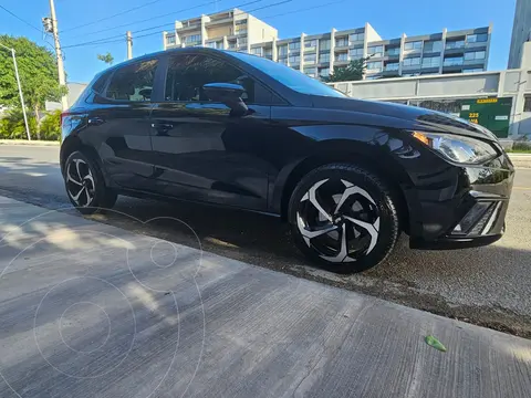
[(506, 154), (486, 165), (447, 169), (438, 189), (419, 190), (420, 218), (412, 228), (409, 247), (447, 250), (496, 242), (506, 229), (513, 178)]

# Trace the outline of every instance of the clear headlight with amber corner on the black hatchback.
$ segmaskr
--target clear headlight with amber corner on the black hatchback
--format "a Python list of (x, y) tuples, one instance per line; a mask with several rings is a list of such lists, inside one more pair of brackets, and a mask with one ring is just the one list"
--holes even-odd
[(498, 156), (488, 143), (465, 136), (450, 134), (413, 132), (413, 136), (448, 160), (462, 164), (479, 164)]

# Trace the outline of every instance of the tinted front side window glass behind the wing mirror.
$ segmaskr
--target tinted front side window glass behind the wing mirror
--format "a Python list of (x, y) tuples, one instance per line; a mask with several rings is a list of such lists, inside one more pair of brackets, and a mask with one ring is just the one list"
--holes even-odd
[(254, 103), (254, 81), (231, 64), (207, 55), (176, 55), (169, 59), (165, 101), (208, 102), (202, 86), (232, 83), (246, 88), (242, 100)]

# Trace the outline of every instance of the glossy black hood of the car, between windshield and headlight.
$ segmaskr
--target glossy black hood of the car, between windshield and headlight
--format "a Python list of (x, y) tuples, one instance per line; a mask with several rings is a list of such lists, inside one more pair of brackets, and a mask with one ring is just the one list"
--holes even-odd
[(457, 134), (489, 140), (498, 139), (496, 135), (480, 125), (441, 112), (417, 106), (408, 106), (381, 101), (322, 96), (315, 96), (313, 98), (313, 105), (320, 108), (352, 111), (355, 113), (395, 117), (410, 122), (412, 129)]

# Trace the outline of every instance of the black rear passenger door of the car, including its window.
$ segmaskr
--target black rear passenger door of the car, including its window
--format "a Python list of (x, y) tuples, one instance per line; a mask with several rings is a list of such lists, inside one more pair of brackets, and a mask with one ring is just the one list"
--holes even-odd
[(93, 140), (113, 184), (127, 189), (153, 190), (150, 94), (157, 59), (116, 69), (87, 113), (85, 140)]

